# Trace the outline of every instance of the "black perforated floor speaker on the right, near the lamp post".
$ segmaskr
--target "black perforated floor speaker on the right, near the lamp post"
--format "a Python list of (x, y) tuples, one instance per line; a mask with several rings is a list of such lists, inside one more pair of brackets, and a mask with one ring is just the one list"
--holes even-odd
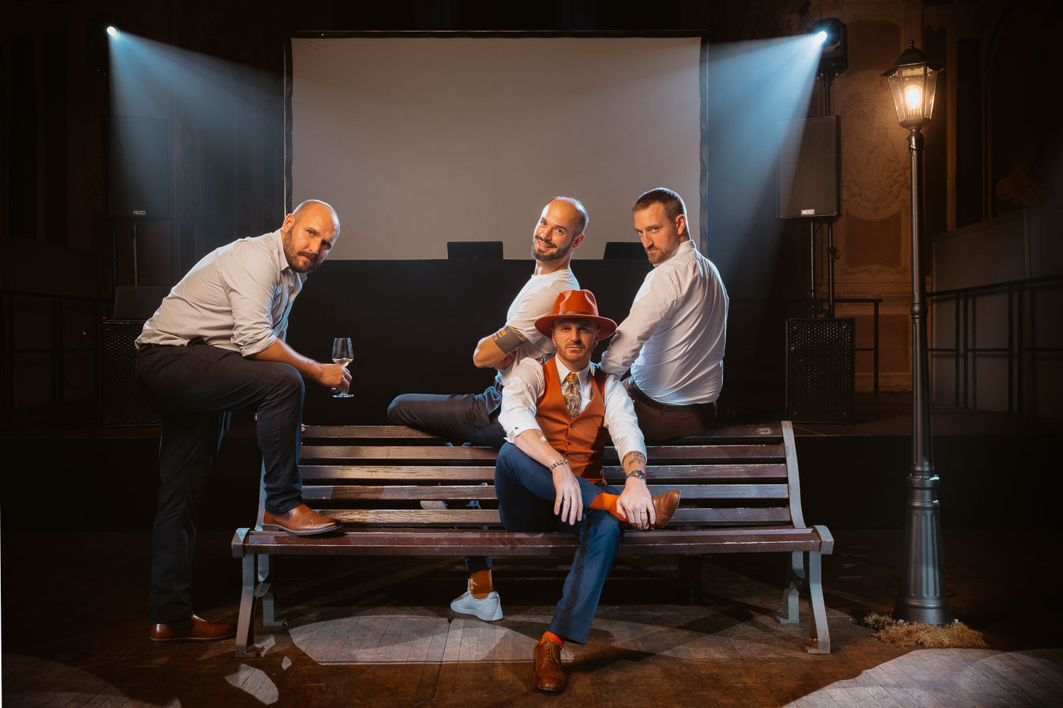
[(853, 317), (787, 320), (787, 418), (853, 422)]

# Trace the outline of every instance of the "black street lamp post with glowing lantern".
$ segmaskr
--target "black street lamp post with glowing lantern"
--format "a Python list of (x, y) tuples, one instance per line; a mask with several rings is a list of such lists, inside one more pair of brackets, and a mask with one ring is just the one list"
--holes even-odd
[(893, 616), (906, 622), (950, 621), (945, 597), (938, 476), (930, 432), (930, 369), (927, 355), (926, 284), (923, 275), (923, 126), (930, 122), (941, 68), (910, 41), (883, 73), (897, 120), (908, 132), (912, 188), (912, 468), (905, 507), (905, 557)]

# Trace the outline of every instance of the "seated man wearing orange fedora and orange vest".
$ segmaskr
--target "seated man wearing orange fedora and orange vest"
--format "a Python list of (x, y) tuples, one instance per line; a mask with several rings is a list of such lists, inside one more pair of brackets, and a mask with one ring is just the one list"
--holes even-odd
[[(524, 359), (505, 379), (499, 422), (507, 443), (499, 451), (494, 489), (507, 531), (563, 531), (579, 538), (561, 601), (534, 652), (536, 688), (561, 691), (561, 647), (567, 640), (587, 641), (621, 524), (663, 526), (679, 493), (649, 495), (646, 450), (631, 400), (615, 377), (591, 365), (594, 345), (617, 329), (598, 315), (594, 295), (566, 290), (535, 327), (551, 338), (556, 355)], [(603, 476), (609, 437), (626, 476), (622, 491)]]

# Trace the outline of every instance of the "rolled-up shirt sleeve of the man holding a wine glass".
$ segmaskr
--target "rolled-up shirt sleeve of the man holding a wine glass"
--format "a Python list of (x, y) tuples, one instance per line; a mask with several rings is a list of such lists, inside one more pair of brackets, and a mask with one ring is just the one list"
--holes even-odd
[(280, 272), (266, 259), (249, 258), (233, 259), (222, 273), (233, 311), (233, 344), (244, 357), (268, 349), (277, 340), (272, 304), (280, 296)]

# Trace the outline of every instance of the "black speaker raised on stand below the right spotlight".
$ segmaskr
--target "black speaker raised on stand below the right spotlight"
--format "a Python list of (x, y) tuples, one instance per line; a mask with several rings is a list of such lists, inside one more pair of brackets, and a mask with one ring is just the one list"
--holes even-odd
[(838, 116), (782, 121), (779, 126), (779, 219), (840, 215), (842, 133)]

